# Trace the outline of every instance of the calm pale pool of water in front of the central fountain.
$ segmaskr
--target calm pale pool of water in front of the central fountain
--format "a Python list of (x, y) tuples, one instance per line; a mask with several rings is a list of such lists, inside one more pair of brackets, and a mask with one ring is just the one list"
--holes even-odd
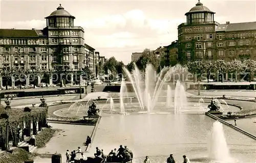
[[(134, 153), (133, 162), (143, 162), (146, 155), (152, 162), (166, 162), (170, 153), (176, 162), (182, 162), (184, 154), (191, 162), (211, 162), (207, 146), (214, 122), (195, 114), (103, 116), (89, 153), (93, 155), (99, 147), (107, 154), (126, 145)], [(255, 141), (227, 126), (223, 128), (233, 162), (255, 162)]]

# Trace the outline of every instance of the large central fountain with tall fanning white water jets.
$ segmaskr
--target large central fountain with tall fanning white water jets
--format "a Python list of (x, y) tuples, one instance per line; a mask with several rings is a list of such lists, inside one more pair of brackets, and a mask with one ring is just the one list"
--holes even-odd
[[(171, 82), (170, 79), (175, 80), (175, 78), (171, 78), (170, 76), (175, 75), (175, 73), (180, 73), (181, 71), (183, 72), (184, 70), (183, 67), (177, 65), (175, 67), (164, 67), (159, 74), (156, 74), (154, 67), (148, 64), (145, 69), (145, 77), (143, 78), (141, 75), (142, 72), (139, 71), (136, 65), (132, 72), (129, 72), (126, 68), (123, 69), (130, 80), (130, 82), (126, 83), (133, 87), (141, 110), (146, 110), (147, 112), (152, 112), (156, 107), (158, 99), (161, 97), (161, 92), (163, 91), (162, 88), (166, 83), (166, 78), (169, 79), (167, 82)], [(124, 82), (121, 83), (120, 98), (123, 98), (123, 94), (125, 93), (123, 88), (126, 88)], [(174, 97), (176, 99), (174, 100), (174, 105), (178, 112), (186, 105), (185, 89), (184, 86), (181, 85), (180, 80), (177, 80)], [(170, 107), (173, 104), (170, 86), (167, 86), (166, 103), (166, 107)]]

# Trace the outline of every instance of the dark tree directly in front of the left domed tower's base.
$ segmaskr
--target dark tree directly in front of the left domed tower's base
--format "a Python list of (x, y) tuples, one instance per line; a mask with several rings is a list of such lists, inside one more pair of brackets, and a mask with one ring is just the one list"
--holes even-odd
[(60, 87), (63, 86), (63, 76), (66, 76), (71, 72), (69, 65), (56, 65), (53, 72), (57, 75), (58, 81), (60, 82)]

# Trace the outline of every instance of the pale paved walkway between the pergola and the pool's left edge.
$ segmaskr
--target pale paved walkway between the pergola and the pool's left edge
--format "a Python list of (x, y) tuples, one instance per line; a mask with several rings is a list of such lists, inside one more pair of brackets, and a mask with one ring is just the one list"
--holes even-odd
[[(77, 150), (81, 147), (82, 151), (86, 150), (83, 143), (86, 142), (87, 135), (91, 137), (94, 126), (69, 125), (49, 123), (54, 129), (59, 129), (55, 136), (47, 143), (46, 147), (37, 151), (38, 156), (34, 158), (35, 163), (51, 162), (51, 156), (54, 153), (62, 155), (62, 162), (66, 162), (66, 150)], [(84, 153), (85, 155), (87, 153)]]

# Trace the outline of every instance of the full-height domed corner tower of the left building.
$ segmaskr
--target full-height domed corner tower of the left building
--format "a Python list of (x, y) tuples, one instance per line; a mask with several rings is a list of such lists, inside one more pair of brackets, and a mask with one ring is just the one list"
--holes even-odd
[[(81, 26), (74, 26), (75, 17), (66, 11), (61, 4), (57, 10), (45, 17), (47, 27), (44, 29), (49, 42), (49, 69), (56, 69), (57, 65), (63, 65), (67, 69), (81, 73), (84, 67), (84, 30)], [(65, 83), (79, 84), (79, 75), (68, 76)], [(67, 79), (67, 77), (65, 78)], [(60, 83), (54, 79), (56, 83)]]

